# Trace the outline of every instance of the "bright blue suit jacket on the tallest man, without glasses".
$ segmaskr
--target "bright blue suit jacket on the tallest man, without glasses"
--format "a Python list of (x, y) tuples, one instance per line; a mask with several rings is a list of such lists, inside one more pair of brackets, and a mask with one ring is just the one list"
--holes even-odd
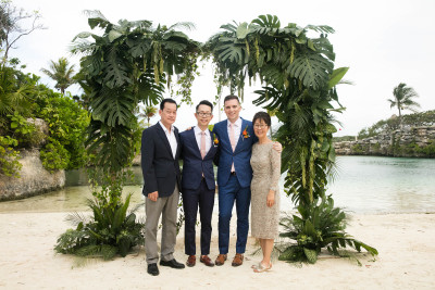
[[(250, 164), (252, 144), (258, 141), (253, 134), (252, 122), (241, 118), (240, 136), (237, 146), (233, 152), (228, 137), (228, 121), (216, 123), (213, 133), (217, 135), (219, 147), (219, 167), (217, 167), (217, 185), (225, 186), (228, 181), (231, 167), (234, 162), (234, 168), (237, 173), (237, 179), (241, 187), (249, 187), (252, 179), (252, 168)], [(243, 131), (247, 130), (249, 137), (244, 138)]]

